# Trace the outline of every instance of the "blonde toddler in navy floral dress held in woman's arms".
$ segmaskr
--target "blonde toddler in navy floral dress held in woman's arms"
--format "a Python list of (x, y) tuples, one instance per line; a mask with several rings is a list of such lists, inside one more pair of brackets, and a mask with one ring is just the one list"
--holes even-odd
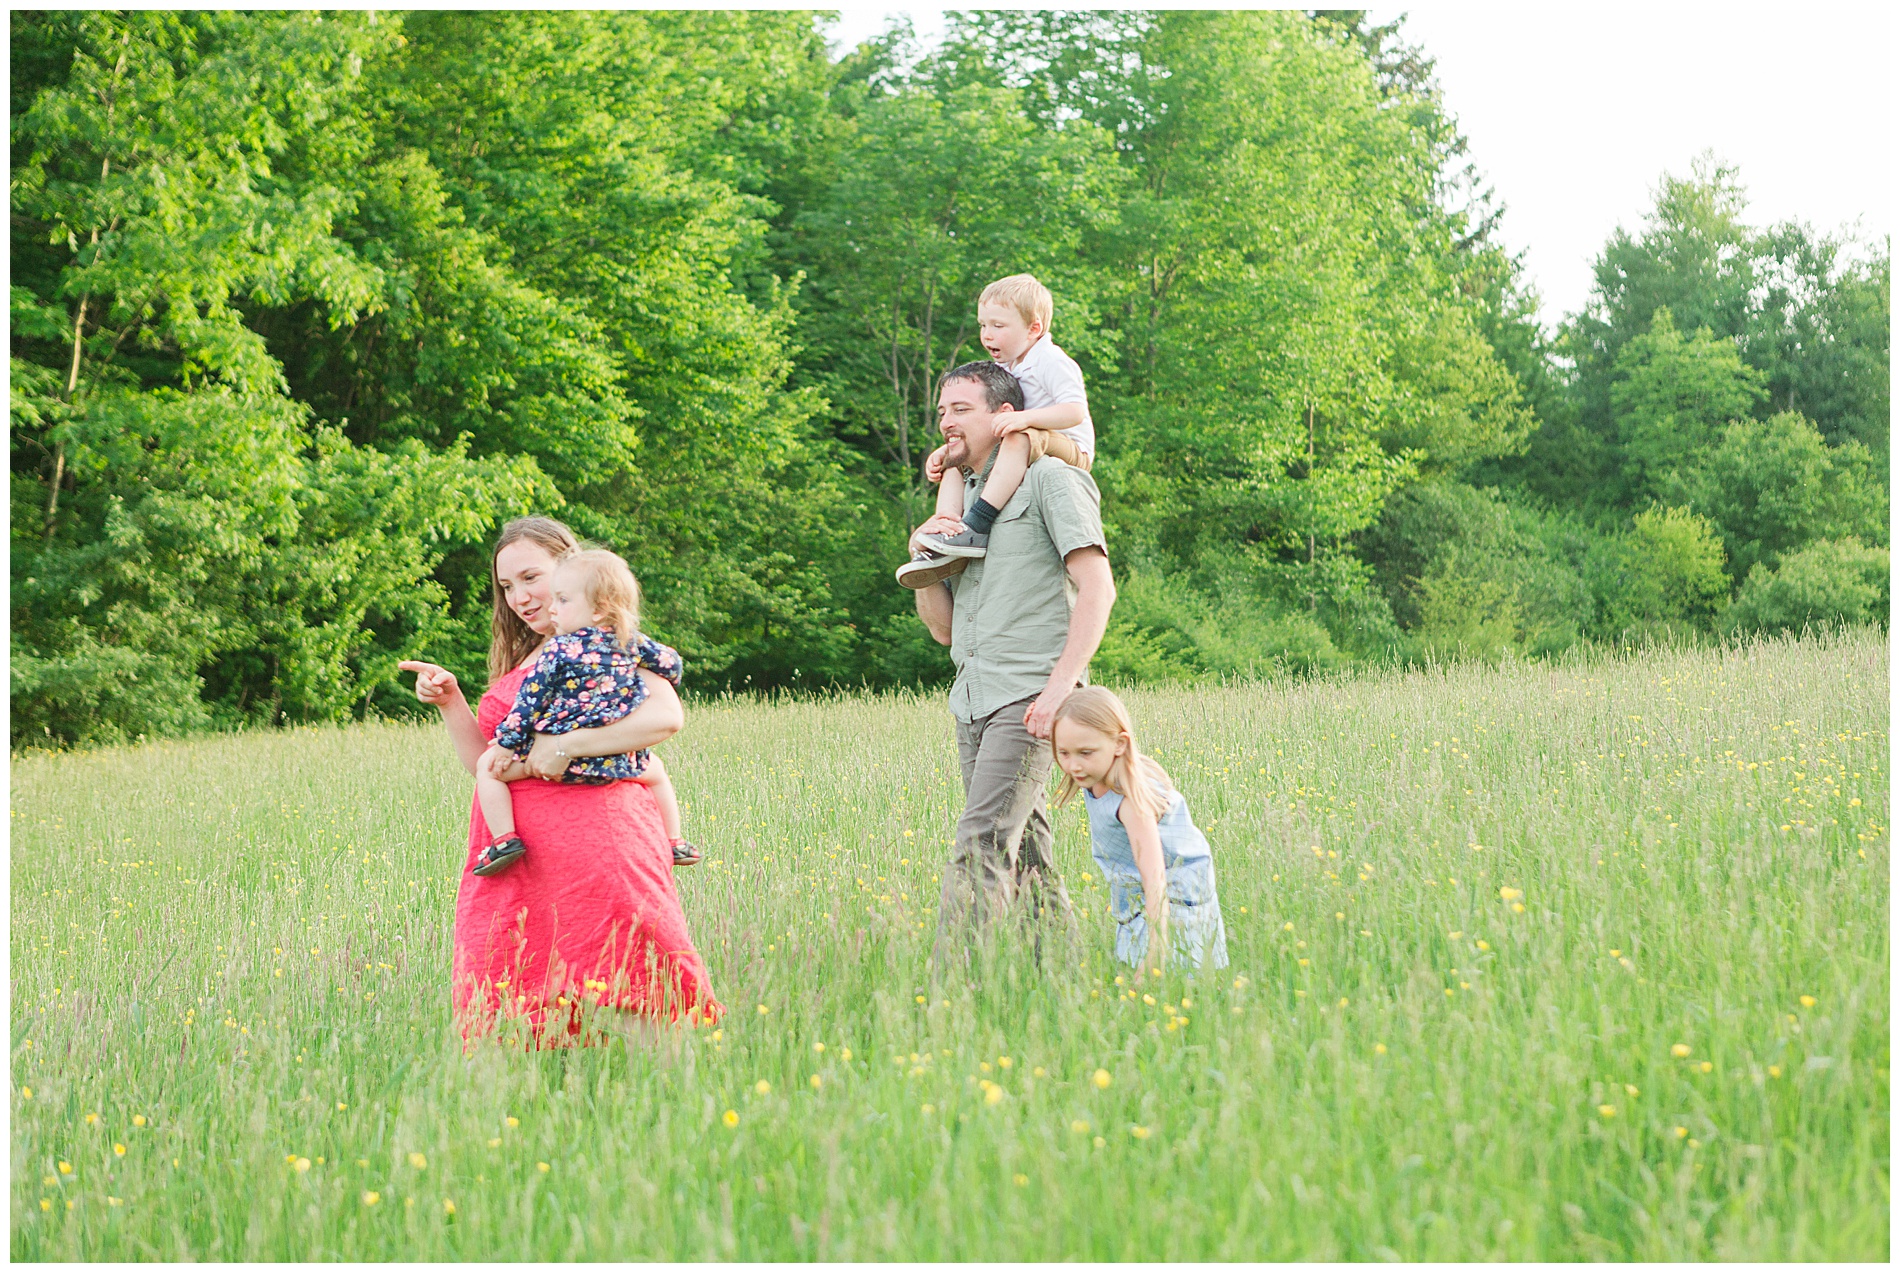
[[(528, 777), (522, 758), (536, 733), (559, 735), (619, 720), (646, 701), (642, 669), (680, 684), (678, 652), (650, 640), (638, 629), (640, 585), (616, 553), (589, 549), (560, 559), (549, 610), (555, 636), (521, 682), (515, 705), (494, 732), (494, 745), (475, 764), (475, 796), (490, 834), (488, 846), (475, 859), (477, 876), (492, 876), (528, 851), (515, 834), (507, 785)], [(673, 794), (673, 781), (650, 750), (576, 758), (560, 781), (635, 781), (648, 787), (673, 846), (673, 864), (690, 866), (699, 861), (699, 849), (680, 834), (680, 804)]]

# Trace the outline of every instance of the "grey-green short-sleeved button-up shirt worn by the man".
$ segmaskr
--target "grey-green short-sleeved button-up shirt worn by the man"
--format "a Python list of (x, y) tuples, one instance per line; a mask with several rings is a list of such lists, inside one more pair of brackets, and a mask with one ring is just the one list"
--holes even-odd
[[(982, 494), (982, 477), (963, 481), (963, 507)], [(950, 576), (950, 712), (969, 724), (999, 707), (1034, 697), (1049, 684), (1075, 581), (1062, 559), (1079, 547), (1108, 551), (1102, 492), (1094, 479), (1043, 456), (990, 526), (990, 551)]]

